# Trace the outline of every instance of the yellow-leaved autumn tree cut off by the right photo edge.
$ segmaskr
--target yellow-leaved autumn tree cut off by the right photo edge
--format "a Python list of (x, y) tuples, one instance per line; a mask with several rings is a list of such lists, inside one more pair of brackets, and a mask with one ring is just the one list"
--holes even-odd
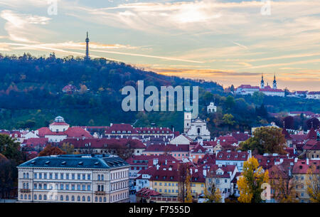
[(320, 203), (320, 174), (319, 167), (312, 165), (306, 172), (306, 185), (310, 196), (310, 201), (313, 203)]

